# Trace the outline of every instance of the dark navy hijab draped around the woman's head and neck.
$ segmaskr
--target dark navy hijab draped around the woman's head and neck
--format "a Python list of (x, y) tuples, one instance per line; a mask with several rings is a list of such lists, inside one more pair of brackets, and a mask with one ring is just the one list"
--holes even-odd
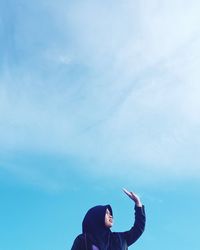
[(95, 206), (88, 210), (82, 223), (83, 234), (100, 250), (109, 248), (111, 230), (105, 226), (106, 209), (113, 215), (110, 205)]

